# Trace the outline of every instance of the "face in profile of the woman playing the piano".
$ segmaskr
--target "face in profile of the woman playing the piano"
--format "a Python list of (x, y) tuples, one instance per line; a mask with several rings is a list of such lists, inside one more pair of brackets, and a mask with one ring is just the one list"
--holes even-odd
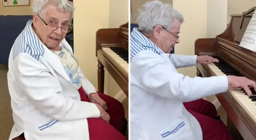
[(170, 53), (176, 43), (179, 43), (180, 21), (174, 20), (171, 29), (157, 25), (154, 29), (154, 37), (157, 39), (157, 46), (165, 53)]

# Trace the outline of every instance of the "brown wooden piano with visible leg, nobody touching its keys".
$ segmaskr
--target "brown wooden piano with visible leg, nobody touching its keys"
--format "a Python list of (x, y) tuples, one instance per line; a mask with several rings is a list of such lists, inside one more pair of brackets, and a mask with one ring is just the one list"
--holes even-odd
[(104, 67), (128, 97), (128, 22), (115, 29), (96, 33), (98, 90), (104, 93)]

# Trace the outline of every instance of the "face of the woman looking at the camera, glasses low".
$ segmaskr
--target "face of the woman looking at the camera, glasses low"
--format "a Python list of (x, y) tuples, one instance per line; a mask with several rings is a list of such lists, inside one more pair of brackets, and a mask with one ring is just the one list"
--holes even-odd
[[(33, 27), (43, 44), (45, 44), (48, 49), (55, 49), (59, 47), (61, 40), (63, 40), (67, 34), (63, 32), (63, 29), (69, 27), (70, 18), (71, 12), (63, 12), (54, 4), (48, 4), (41, 17), (36, 14), (33, 15)], [(47, 26), (46, 24), (49, 25)], [(52, 28), (54, 24), (59, 28)], [(62, 27), (62, 29), (60, 27)]]

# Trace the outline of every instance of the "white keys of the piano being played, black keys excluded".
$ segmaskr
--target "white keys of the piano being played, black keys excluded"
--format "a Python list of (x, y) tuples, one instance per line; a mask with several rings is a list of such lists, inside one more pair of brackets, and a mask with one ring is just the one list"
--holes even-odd
[[(225, 75), (222, 71), (215, 66), (212, 62), (208, 64), (208, 67), (217, 75), (222, 76)], [(235, 100), (244, 108), (244, 110), (256, 121), (256, 101), (251, 101), (249, 96), (243, 93), (241, 88), (228, 88), (230, 94), (234, 97)]]

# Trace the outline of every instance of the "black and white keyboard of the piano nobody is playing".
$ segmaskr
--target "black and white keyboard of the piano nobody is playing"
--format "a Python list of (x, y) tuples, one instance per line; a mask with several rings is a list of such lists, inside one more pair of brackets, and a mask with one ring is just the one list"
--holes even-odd
[(108, 54), (128, 74), (128, 52), (121, 47), (102, 47), (102, 51)]

